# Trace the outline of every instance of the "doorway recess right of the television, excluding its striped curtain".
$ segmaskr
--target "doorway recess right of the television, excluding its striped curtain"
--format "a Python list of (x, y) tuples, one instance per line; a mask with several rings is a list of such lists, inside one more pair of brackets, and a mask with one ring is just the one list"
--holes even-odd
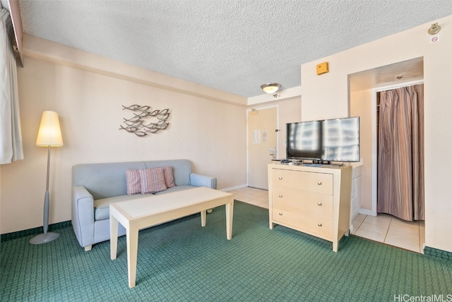
[(423, 65), (419, 57), (349, 75), (350, 116), (362, 117), (362, 207), (352, 222), (352, 234), (417, 253), (422, 253), (425, 242), (423, 221), (377, 215), (377, 92), (423, 83)]

